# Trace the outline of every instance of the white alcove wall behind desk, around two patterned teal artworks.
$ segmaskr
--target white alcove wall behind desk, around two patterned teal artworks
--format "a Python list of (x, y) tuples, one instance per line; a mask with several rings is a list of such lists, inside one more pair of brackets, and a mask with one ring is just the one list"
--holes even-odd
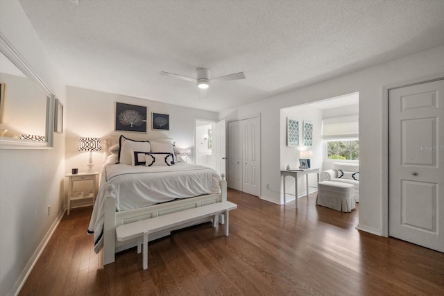
[[(280, 110), (280, 168), (284, 170), (287, 164), (290, 168), (299, 167), (300, 158), (309, 158), (311, 161), (311, 168), (321, 168), (322, 166), (322, 139), (321, 139), (321, 125), (322, 125), (322, 110), (311, 107), (310, 105), (302, 105), (297, 107), (289, 107)], [(297, 119), (299, 121), (299, 146), (289, 147), (287, 146), (287, 117), (291, 119)], [(309, 121), (313, 123), (313, 146), (303, 146), (302, 125), (304, 121)], [(301, 157), (300, 153), (302, 151), (307, 151), (311, 154), (310, 157)], [(316, 187), (317, 177), (316, 174), (309, 174), (309, 186)], [(289, 198), (289, 195), (294, 193), (294, 181), (293, 178), (287, 177), (286, 182), (286, 192), (287, 192), (287, 202), (293, 198)], [(281, 198), (280, 204), (284, 202), (284, 191), (280, 188)], [(273, 189), (273, 186), (271, 186)], [(314, 191), (316, 189), (310, 188), (309, 191)], [(307, 195), (307, 190), (305, 186), (305, 177), (298, 178), (298, 196)]]

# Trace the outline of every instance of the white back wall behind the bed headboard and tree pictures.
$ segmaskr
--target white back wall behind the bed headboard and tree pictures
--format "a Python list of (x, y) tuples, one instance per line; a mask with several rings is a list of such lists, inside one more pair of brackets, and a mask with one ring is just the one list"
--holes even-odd
[[(147, 132), (115, 132), (114, 118), (116, 102), (146, 106), (148, 112)], [(151, 129), (151, 112), (169, 114), (169, 130)], [(189, 107), (149, 101), (143, 98), (98, 92), (78, 87), (67, 87), (67, 129), (66, 129), (66, 173), (71, 168), (87, 170), (89, 153), (78, 151), (80, 137), (99, 137), (105, 139), (111, 135), (124, 134), (128, 138), (172, 138), (178, 148), (193, 148), (195, 119), (215, 121), (216, 112), (197, 110)], [(94, 169), (99, 171), (103, 162), (103, 153), (93, 153)], [(194, 155), (188, 157), (194, 162)]]

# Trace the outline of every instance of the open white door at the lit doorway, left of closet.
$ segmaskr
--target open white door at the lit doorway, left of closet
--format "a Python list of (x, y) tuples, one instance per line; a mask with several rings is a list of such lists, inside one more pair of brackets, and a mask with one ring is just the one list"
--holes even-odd
[(212, 124), (212, 153), (216, 162), (216, 171), (219, 174), (227, 175), (226, 172), (226, 132), (225, 119)]

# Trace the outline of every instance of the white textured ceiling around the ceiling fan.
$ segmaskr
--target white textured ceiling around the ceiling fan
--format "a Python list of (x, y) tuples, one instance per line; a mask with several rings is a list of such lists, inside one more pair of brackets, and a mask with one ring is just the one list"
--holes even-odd
[(444, 44), (443, 0), (19, 2), (68, 85), (216, 112)]

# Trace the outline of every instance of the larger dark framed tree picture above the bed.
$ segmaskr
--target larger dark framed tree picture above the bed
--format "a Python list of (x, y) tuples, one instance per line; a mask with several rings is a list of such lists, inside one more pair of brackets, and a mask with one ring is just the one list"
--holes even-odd
[(116, 103), (116, 131), (146, 132), (146, 107)]

